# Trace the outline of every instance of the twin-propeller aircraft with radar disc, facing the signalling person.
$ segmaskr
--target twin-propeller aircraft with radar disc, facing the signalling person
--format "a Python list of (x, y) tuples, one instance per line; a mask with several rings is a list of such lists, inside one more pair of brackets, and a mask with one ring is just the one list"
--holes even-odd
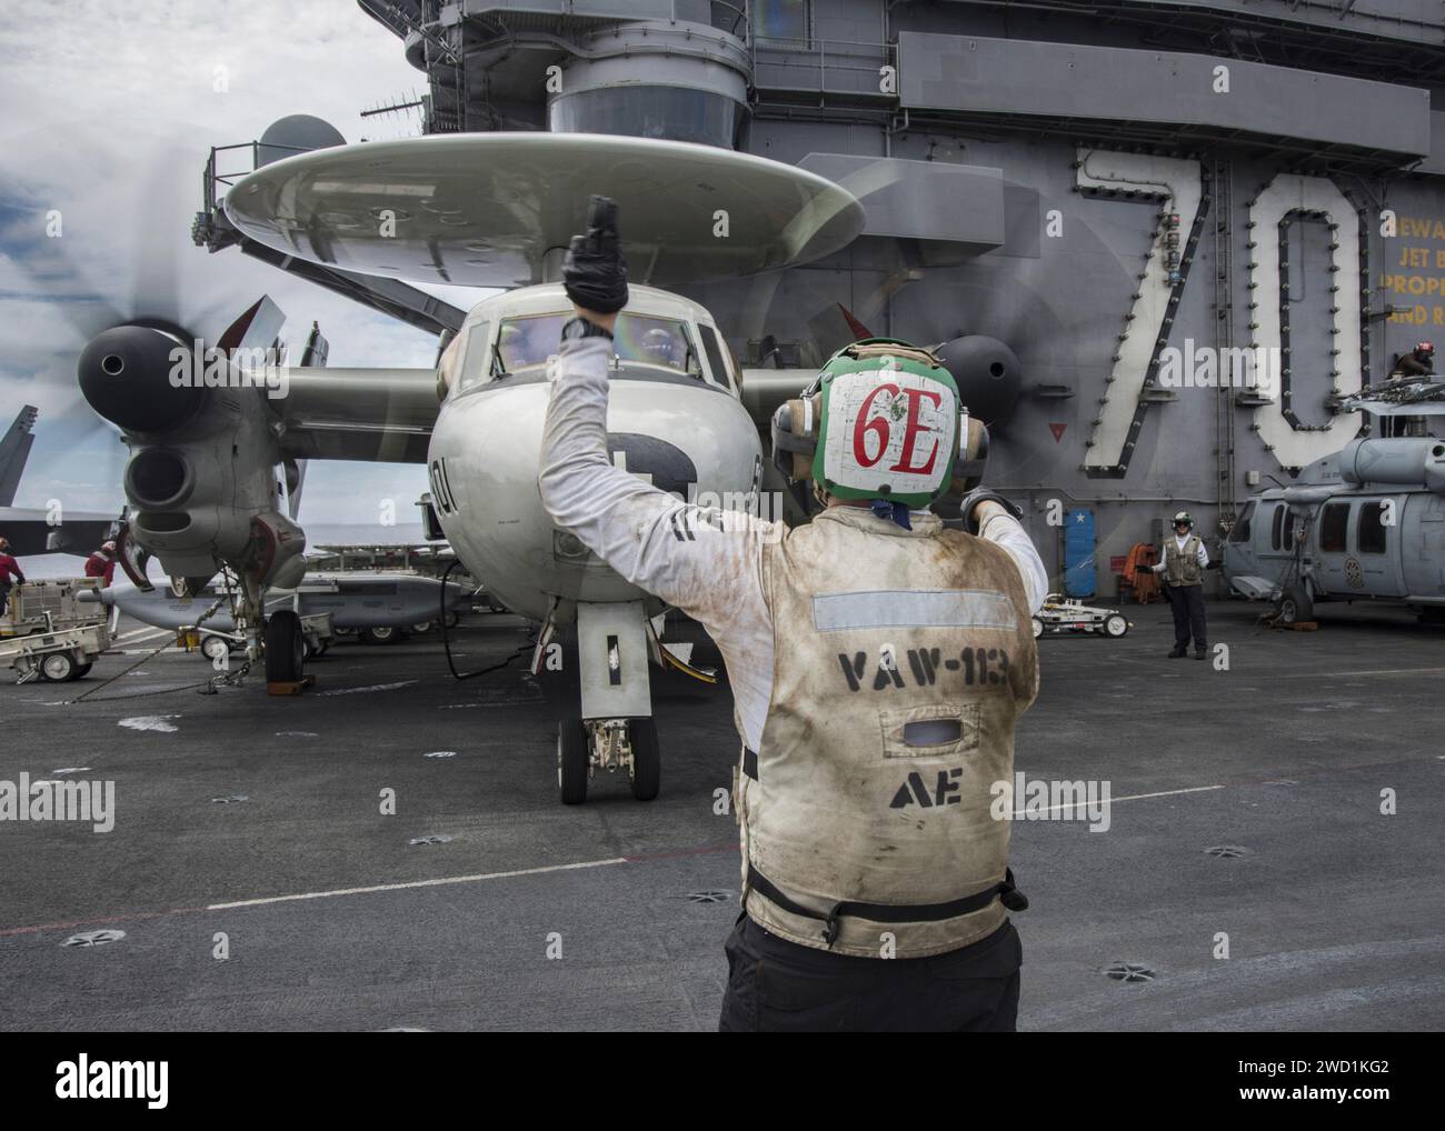
[[(143, 586), (142, 559), (155, 556), (189, 591), (228, 571), (250, 653), (264, 653), (267, 679), (296, 679), (299, 618), (267, 615), (263, 594), (296, 585), (305, 565), (305, 536), (283, 513), (299, 468), (318, 458), (425, 462), (429, 536), (540, 625), (533, 670), (558, 706), (559, 764), (626, 770), (634, 796), (650, 799), (659, 742), (649, 660), (669, 659), (655, 631), (665, 608), (556, 529), (538, 490), (548, 363), (571, 318), (564, 250), (591, 194), (618, 202), (631, 298), (616, 332), (613, 459), (683, 497), (751, 506), (764, 482), (760, 428), (812, 374), (743, 374), (712, 315), (660, 285), (811, 261), (860, 234), (863, 208), (805, 169), (681, 142), (513, 131), (338, 140), (241, 176), (208, 222), (228, 227), (233, 243), (244, 237), (251, 254), (308, 260), (347, 280), (467, 285), (471, 264), (491, 272), (500, 260), (519, 286), (477, 303), (444, 337), (435, 370), (301, 365), (283, 381), (178, 387), (168, 374), (175, 351), (192, 350), (191, 328), (127, 322), (95, 335), (79, 384), (131, 451), (123, 568)], [(277, 329), (279, 312), (262, 300), (217, 345), (269, 347)], [(945, 364), (967, 403), (993, 357), (954, 345)], [(561, 676), (543, 670), (545, 641), (564, 649)]]

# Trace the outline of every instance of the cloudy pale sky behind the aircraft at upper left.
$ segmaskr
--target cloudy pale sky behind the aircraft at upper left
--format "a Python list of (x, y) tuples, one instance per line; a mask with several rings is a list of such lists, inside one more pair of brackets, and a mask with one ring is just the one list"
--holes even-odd
[[(124, 501), (124, 448), (75, 384), (105, 308), (172, 306), (214, 337), (270, 295), (288, 315), (293, 360), (319, 321), (332, 365), (432, 364), (431, 335), (238, 248), (212, 256), (191, 244), (211, 146), (251, 142), (298, 113), (348, 142), (418, 131), (409, 116), (363, 124), (361, 110), (425, 90), (425, 77), (354, 0), (42, 0), (23, 12), (0, 23), (0, 430), (22, 404), (40, 419), (16, 506), (59, 498), (118, 513)], [(59, 240), (45, 235), (51, 209)], [(464, 295), (447, 298), (468, 305)], [(397, 520), (412, 521), (423, 490), (420, 467), (314, 462), (301, 517), (370, 523), (394, 498)]]

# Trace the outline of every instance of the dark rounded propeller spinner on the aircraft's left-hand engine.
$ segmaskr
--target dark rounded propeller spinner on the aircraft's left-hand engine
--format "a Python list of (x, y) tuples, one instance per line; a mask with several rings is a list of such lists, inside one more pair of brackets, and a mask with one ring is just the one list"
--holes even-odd
[(197, 380), (175, 387), (171, 373), (179, 352), (186, 373), (191, 350), (178, 338), (150, 326), (116, 326), (90, 339), (75, 367), (87, 403), (127, 432), (169, 432), (181, 428), (201, 407), (204, 389)]

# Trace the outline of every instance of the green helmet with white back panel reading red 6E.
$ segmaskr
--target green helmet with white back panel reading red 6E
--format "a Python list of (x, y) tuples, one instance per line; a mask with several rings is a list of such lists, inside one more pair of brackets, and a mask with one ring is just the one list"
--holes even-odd
[(866, 338), (828, 358), (814, 482), (837, 498), (926, 507), (958, 458), (958, 386), (926, 350)]

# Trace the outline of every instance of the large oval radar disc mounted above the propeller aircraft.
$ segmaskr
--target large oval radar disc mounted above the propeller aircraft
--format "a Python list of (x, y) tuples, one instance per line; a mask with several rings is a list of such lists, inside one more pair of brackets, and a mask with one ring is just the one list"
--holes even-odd
[[(236, 183), (225, 214), (253, 240), (344, 270), (419, 283), (526, 286), (617, 201), (636, 283), (790, 267), (863, 231), (857, 198), (749, 153), (644, 137), (487, 133), (302, 153)], [(486, 248), (486, 250), (480, 250)]]

